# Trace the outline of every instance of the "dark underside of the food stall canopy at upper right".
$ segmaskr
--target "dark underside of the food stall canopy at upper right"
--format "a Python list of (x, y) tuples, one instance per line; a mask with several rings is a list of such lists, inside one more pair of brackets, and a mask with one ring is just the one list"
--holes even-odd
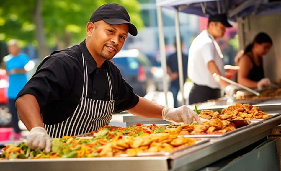
[(233, 21), (236, 17), (281, 12), (281, 0), (156, 0), (156, 6), (204, 17), (226, 13)]

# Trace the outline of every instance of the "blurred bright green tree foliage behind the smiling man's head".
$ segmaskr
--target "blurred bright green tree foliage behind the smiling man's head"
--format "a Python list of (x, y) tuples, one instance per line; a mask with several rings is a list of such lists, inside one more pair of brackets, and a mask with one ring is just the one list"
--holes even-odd
[[(36, 13), (38, 2), (41, 3), (40, 13)], [(41, 42), (41, 46), (66, 48), (86, 37), (86, 24), (92, 12), (100, 5), (110, 2), (123, 5), (130, 14), (131, 22), (138, 29), (143, 27), (137, 0), (2, 0), (0, 41), (16, 38), (22, 46), (27, 43), (37, 46), (43, 40), (45, 42)], [(36, 29), (38, 23), (35, 22), (35, 17), (38, 14), (43, 21), (41, 30)], [(38, 32), (43, 32), (45, 38), (41, 39)]]

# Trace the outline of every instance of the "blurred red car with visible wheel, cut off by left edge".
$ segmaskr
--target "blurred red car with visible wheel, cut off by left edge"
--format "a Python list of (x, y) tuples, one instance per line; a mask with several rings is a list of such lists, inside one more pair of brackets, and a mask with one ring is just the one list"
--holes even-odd
[(12, 115), (8, 108), (7, 87), (8, 77), (5, 70), (0, 69), (0, 127), (12, 125)]

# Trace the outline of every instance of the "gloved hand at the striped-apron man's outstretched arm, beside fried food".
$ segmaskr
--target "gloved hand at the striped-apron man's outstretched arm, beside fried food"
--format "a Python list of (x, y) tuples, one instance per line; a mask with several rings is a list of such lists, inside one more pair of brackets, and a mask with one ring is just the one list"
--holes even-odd
[(198, 114), (185, 105), (173, 109), (165, 107), (162, 110), (162, 118), (169, 122), (184, 122), (188, 124), (196, 120), (198, 124), (201, 124)]

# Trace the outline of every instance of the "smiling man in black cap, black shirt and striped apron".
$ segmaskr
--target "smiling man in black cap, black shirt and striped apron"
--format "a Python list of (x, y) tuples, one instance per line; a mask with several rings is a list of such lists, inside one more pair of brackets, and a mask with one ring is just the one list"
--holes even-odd
[(87, 37), (71, 48), (54, 51), (38, 66), (19, 92), (16, 108), (28, 130), (31, 149), (50, 152), (51, 137), (76, 136), (108, 125), (113, 113), (200, 123), (187, 106), (165, 108), (138, 97), (110, 61), (128, 33), (137, 35), (126, 9), (118, 4), (97, 8), (86, 27)]

